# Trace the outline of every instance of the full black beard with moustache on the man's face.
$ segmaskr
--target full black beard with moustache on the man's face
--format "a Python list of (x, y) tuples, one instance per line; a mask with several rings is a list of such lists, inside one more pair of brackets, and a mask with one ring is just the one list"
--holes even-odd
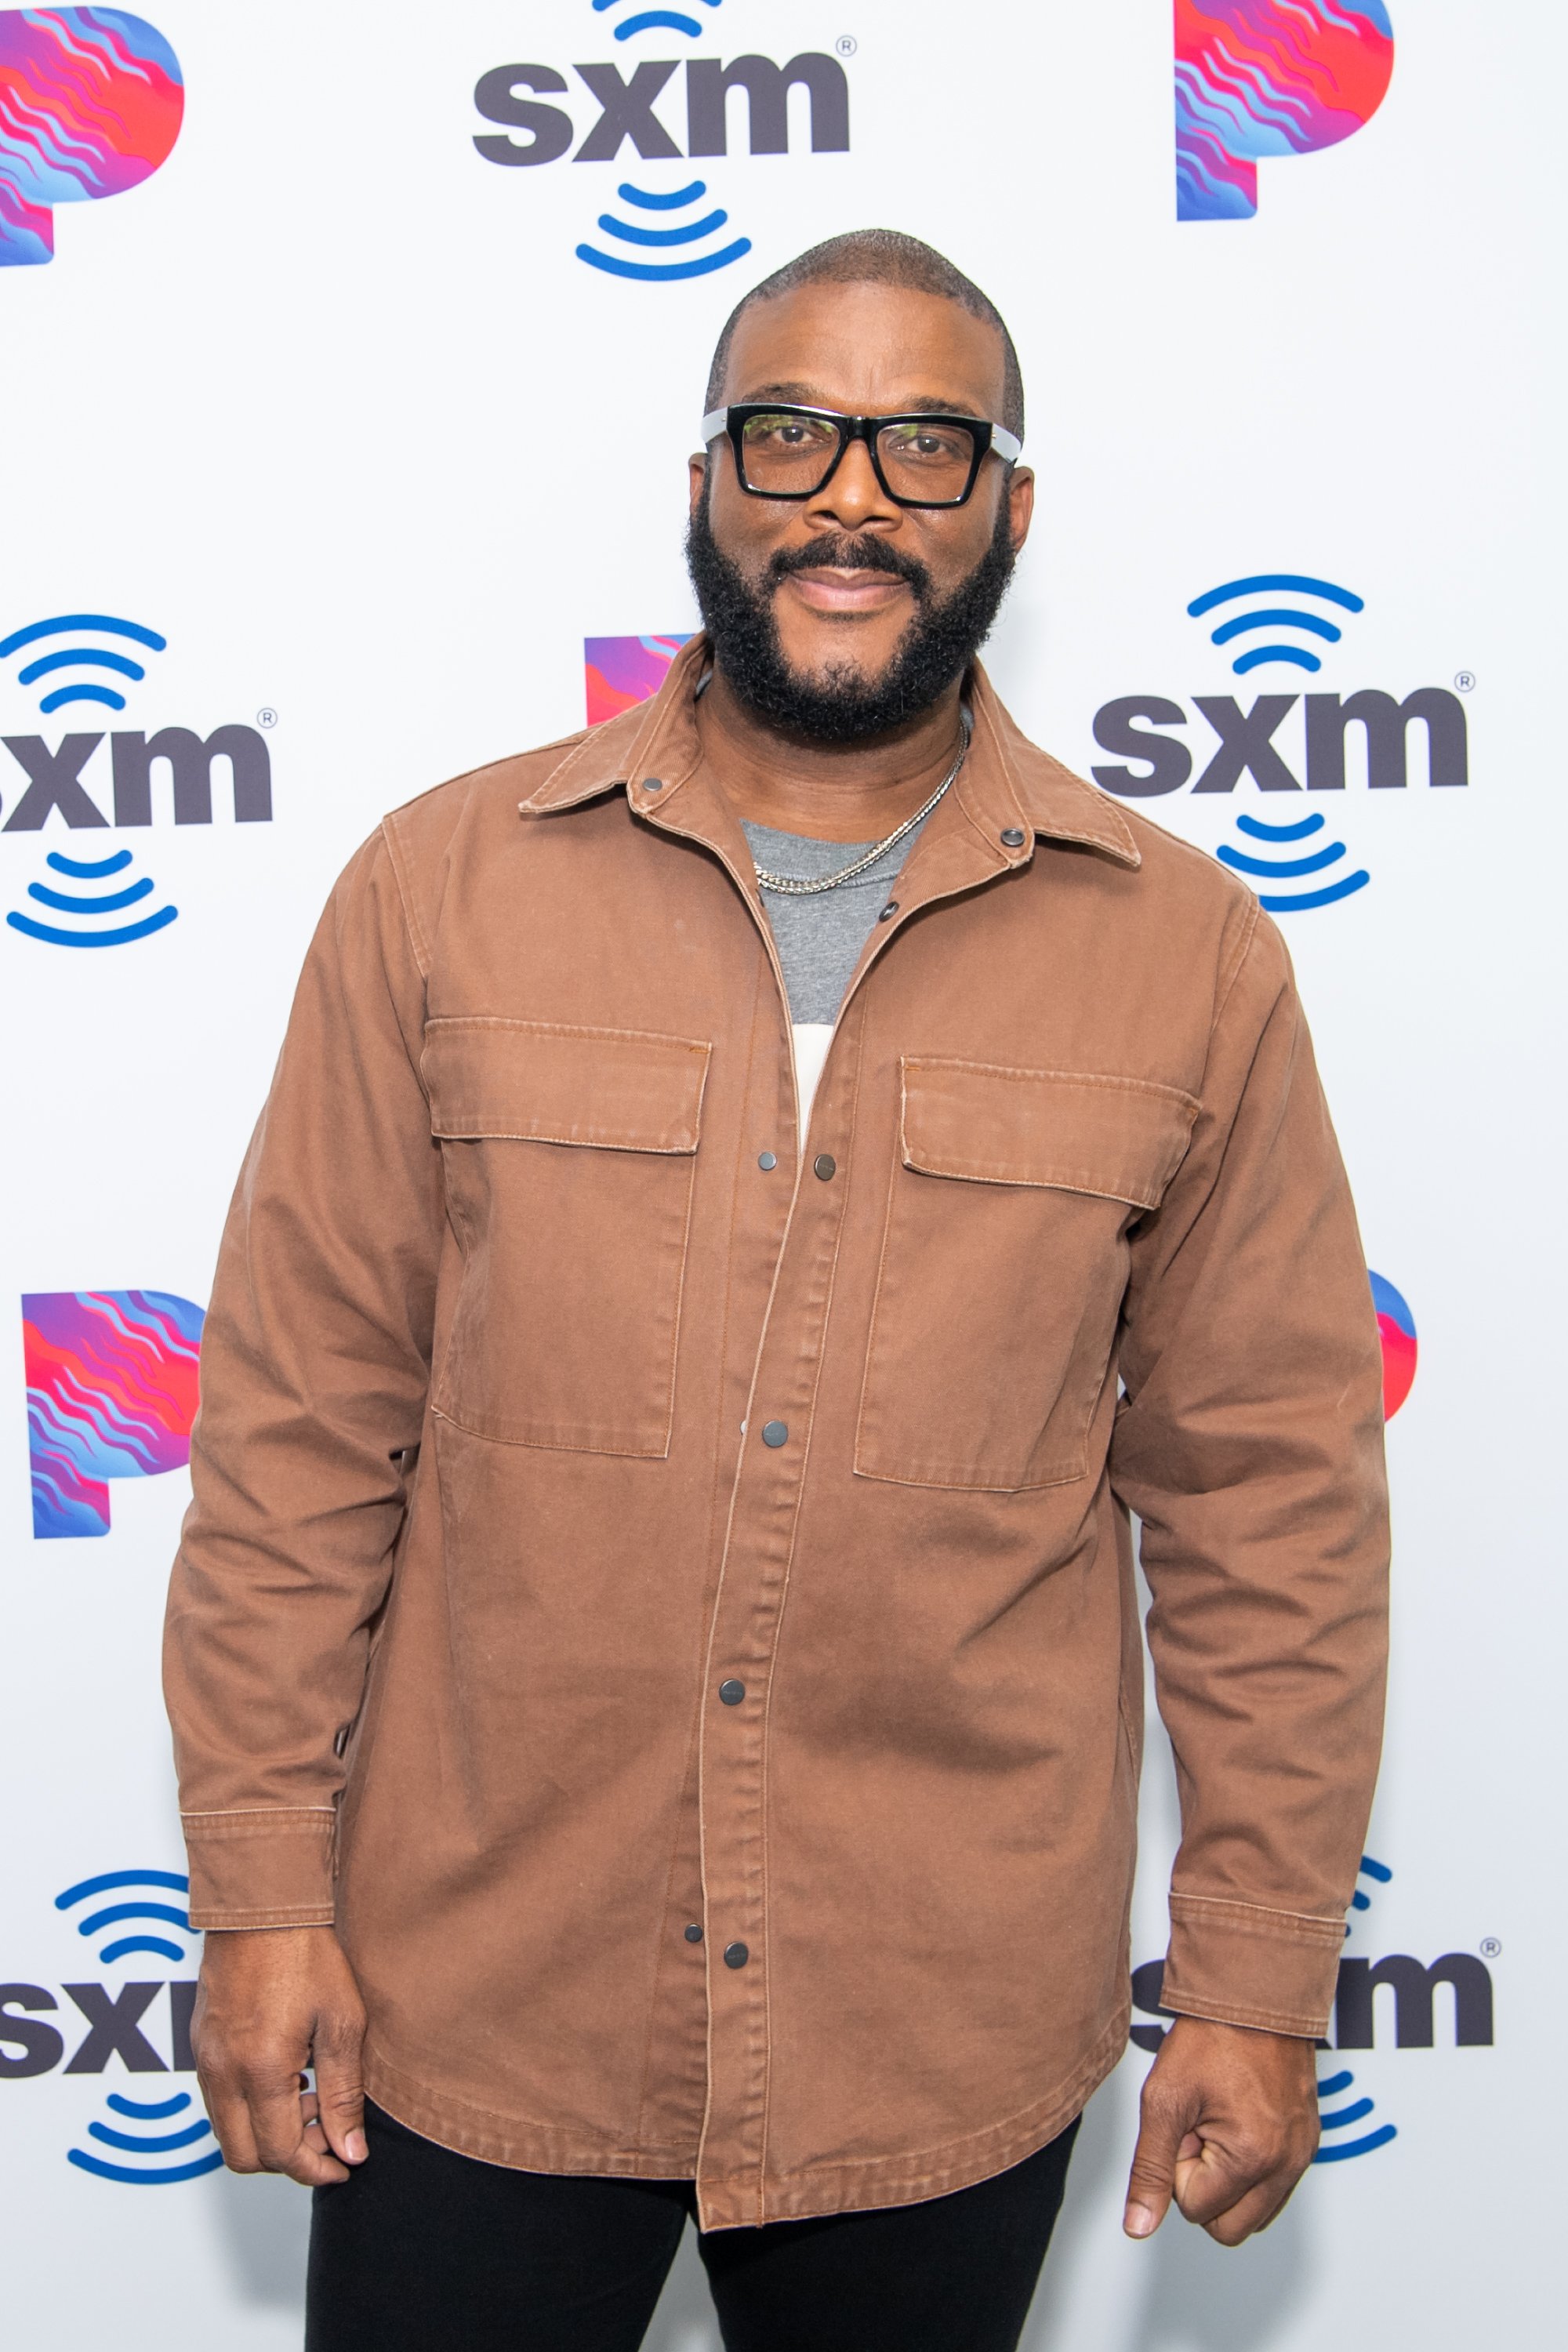
[[(816, 564), (896, 572), (914, 590), (914, 616), (879, 680), (865, 680), (851, 668), (802, 677), (785, 661), (773, 590), (790, 572)], [(705, 496), (686, 529), (686, 569), (712, 659), (748, 710), (769, 727), (816, 743), (858, 743), (929, 710), (985, 644), (1013, 576), (1009, 508), (1004, 499), (990, 548), (945, 600), (931, 593), (931, 574), (922, 562), (870, 536), (823, 536), (809, 548), (780, 550), (752, 588), (712, 536)]]

